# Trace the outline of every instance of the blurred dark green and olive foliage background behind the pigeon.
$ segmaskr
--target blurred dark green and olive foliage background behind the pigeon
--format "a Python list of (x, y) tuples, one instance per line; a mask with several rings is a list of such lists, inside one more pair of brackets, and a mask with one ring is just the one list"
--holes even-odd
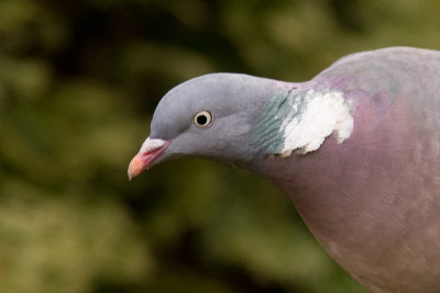
[(173, 86), (307, 80), (352, 52), (440, 49), (437, 0), (1, 0), (0, 292), (366, 292), (287, 198), (188, 159), (127, 167)]

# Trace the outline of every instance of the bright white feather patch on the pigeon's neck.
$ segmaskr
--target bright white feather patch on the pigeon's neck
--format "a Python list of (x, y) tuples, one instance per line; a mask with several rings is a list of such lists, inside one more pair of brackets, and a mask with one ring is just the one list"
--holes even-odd
[[(339, 144), (350, 137), (353, 131), (353, 117), (350, 114), (352, 103), (343, 98), (342, 92), (322, 93), (309, 90), (301, 103), (305, 110), (299, 115), (287, 116), (282, 123), (282, 157), (289, 156), (294, 150), (299, 154), (314, 151), (333, 132)], [(292, 106), (297, 109), (298, 104)]]

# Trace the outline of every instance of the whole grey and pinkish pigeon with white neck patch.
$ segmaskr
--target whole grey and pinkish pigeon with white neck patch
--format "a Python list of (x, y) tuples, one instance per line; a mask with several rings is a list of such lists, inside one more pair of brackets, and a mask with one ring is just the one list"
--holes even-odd
[[(202, 127), (193, 123), (200, 111), (212, 115)], [(385, 48), (302, 83), (229, 74), (185, 82), (155, 112), (158, 146), (143, 146), (129, 172), (179, 156), (237, 164), (284, 190), (371, 291), (439, 292), (439, 128), (440, 52)]]

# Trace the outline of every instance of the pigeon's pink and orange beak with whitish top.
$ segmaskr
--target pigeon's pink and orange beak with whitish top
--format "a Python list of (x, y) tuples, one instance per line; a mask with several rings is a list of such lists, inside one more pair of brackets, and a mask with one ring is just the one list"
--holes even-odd
[(148, 169), (157, 160), (168, 146), (168, 142), (157, 138), (146, 138), (141, 150), (131, 160), (129, 166), (129, 180)]

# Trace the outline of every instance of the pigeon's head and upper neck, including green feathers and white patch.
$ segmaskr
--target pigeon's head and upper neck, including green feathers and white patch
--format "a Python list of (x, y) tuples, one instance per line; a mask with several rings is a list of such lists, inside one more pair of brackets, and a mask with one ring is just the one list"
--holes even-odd
[(340, 91), (317, 91), (239, 74), (211, 74), (172, 89), (153, 115), (151, 135), (129, 166), (129, 178), (161, 161), (201, 157), (256, 170), (264, 155), (307, 154), (333, 132), (353, 129)]

